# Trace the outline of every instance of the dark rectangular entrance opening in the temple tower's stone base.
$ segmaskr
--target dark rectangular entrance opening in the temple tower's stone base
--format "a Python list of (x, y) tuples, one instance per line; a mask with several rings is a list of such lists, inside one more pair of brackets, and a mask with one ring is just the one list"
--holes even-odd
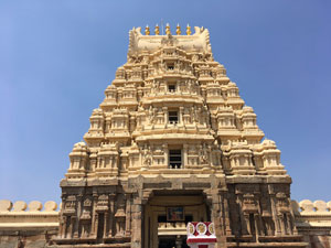
[(201, 191), (168, 193), (156, 192), (145, 206), (145, 248), (188, 248), (186, 224), (210, 219)]

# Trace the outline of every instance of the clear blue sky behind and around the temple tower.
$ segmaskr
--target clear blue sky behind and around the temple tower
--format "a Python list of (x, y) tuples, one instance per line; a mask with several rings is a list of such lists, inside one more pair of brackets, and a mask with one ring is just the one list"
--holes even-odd
[(0, 1), (0, 198), (60, 202), (89, 116), (126, 62), (128, 32), (161, 19), (205, 26), (292, 198), (331, 200), (331, 2)]

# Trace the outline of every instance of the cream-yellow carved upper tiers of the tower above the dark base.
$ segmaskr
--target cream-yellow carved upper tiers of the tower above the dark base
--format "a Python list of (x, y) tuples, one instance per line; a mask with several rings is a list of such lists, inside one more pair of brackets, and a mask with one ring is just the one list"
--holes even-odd
[[(260, 142), (253, 108), (214, 61), (209, 31), (194, 29), (193, 35), (173, 36), (149, 35), (148, 26), (146, 35), (140, 28), (130, 31), (128, 62), (93, 111), (86, 144), (74, 145), (68, 180), (202, 170), (286, 174), (275, 142)], [(169, 171), (169, 150), (177, 145), (182, 172)]]

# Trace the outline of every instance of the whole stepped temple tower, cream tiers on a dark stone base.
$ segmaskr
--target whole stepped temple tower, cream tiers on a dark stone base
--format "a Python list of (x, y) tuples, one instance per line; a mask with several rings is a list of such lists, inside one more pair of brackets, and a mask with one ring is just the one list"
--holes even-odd
[(70, 153), (57, 246), (186, 247), (185, 223), (203, 220), (218, 248), (305, 247), (280, 151), (209, 31), (130, 31), (127, 63)]

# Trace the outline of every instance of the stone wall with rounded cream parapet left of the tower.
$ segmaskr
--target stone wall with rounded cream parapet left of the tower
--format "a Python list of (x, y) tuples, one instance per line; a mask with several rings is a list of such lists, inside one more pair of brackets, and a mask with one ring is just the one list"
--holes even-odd
[(55, 202), (0, 201), (0, 248), (39, 248), (52, 244), (58, 230)]

